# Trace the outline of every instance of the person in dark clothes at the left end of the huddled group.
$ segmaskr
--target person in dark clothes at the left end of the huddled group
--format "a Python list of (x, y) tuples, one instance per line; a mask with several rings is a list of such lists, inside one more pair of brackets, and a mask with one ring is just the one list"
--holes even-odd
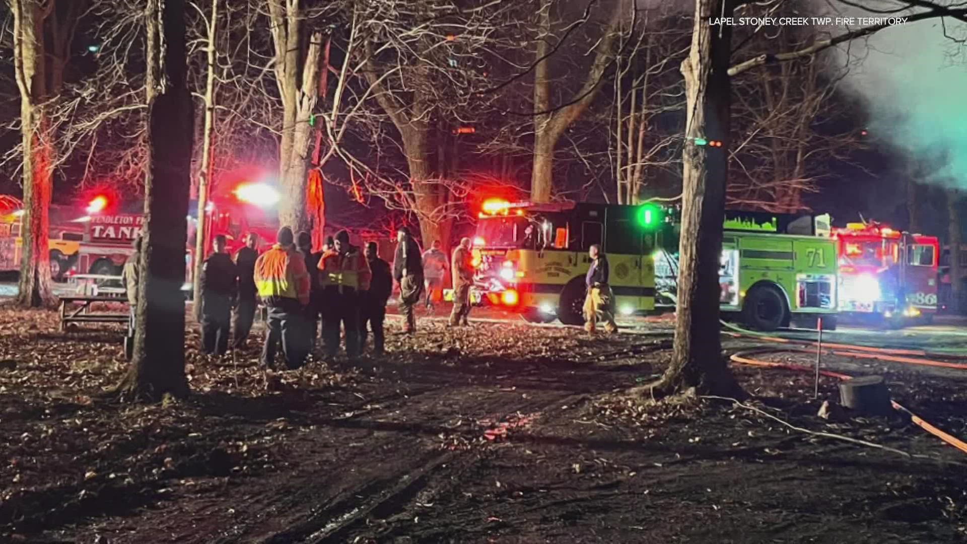
[(215, 253), (205, 259), (201, 269), (201, 343), (208, 355), (224, 355), (228, 350), (232, 303), (238, 286), (238, 269), (225, 252), (223, 234), (215, 237)]

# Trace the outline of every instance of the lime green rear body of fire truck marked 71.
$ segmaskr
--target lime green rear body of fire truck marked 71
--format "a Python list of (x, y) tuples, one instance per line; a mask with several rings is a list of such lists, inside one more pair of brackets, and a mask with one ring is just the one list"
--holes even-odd
[[(771, 331), (797, 322), (835, 329), (837, 265), (830, 216), (727, 211), (719, 261), (722, 317)], [(674, 307), (678, 224), (656, 256), (657, 306)]]

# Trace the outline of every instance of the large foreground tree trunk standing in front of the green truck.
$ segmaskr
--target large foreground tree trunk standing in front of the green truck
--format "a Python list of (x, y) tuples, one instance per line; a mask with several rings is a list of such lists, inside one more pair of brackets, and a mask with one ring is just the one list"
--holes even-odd
[(731, 27), (712, 26), (709, 17), (732, 16), (733, 0), (696, 0), (689, 57), (682, 62), (687, 106), (682, 155), (682, 234), (679, 242), (678, 301), (674, 354), (664, 376), (645, 386), (660, 397), (696, 387), (700, 392), (736, 395), (739, 387), (721, 354), (718, 323), (718, 263), (728, 147), (697, 146), (692, 138), (729, 138)]

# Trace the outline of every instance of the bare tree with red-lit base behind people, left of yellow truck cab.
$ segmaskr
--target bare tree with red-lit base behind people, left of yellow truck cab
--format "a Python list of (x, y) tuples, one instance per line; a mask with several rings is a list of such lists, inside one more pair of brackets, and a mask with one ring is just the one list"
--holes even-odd
[(375, 182), (369, 188), (391, 206), (414, 212), (425, 243), (448, 245), (470, 188), (448, 179), (456, 154), (444, 159), (452, 147), (443, 138), (459, 133), (462, 121), (492, 100), (474, 91), (488, 86), (486, 66), (496, 51), (510, 47), (499, 31), (514, 6), (485, 0), (355, 4), (356, 16), (366, 21), (366, 81), (400, 136), (407, 175), (400, 183), (366, 169)]

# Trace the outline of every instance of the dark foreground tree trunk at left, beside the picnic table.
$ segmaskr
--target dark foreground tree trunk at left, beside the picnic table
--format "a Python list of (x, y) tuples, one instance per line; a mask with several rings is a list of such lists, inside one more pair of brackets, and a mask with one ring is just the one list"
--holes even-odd
[(134, 353), (119, 386), (159, 400), (188, 392), (185, 378), (185, 242), (191, 190), (191, 95), (185, 0), (149, 0), (148, 166)]

